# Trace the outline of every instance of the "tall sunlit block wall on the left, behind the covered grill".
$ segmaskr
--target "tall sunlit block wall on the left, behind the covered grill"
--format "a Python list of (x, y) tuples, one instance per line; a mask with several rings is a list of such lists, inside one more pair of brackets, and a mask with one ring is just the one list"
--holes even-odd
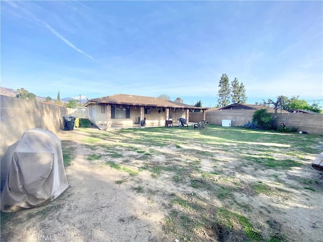
[(69, 109), (36, 101), (0, 95), (1, 188), (7, 176), (13, 151), (23, 133), (41, 128), (56, 133), (63, 127)]

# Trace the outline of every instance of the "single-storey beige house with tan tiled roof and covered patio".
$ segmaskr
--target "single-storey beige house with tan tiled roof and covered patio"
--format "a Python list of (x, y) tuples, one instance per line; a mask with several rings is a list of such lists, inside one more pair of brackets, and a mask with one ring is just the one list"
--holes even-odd
[(173, 102), (158, 97), (128, 94), (93, 98), (85, 106), (91, 122), (106, 129), (110, 129), (111, 125), (143, 125), (143, 122), (151, 126), (166, 126), (172, 121), (176, 123), (180, 117), (188, 120), (189, 112), (197, 109), (202, 110), (205, 118), (207, 109), (184, 104), (181, 98)]

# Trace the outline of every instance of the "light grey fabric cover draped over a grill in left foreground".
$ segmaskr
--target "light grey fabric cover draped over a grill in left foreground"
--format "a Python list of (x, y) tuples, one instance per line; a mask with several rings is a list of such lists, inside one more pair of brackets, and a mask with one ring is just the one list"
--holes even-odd
[(1, 211), (33, 208), (68, 188), (61, 140), (43, 129), (26, 131), (14, 150), (1, 195)]

